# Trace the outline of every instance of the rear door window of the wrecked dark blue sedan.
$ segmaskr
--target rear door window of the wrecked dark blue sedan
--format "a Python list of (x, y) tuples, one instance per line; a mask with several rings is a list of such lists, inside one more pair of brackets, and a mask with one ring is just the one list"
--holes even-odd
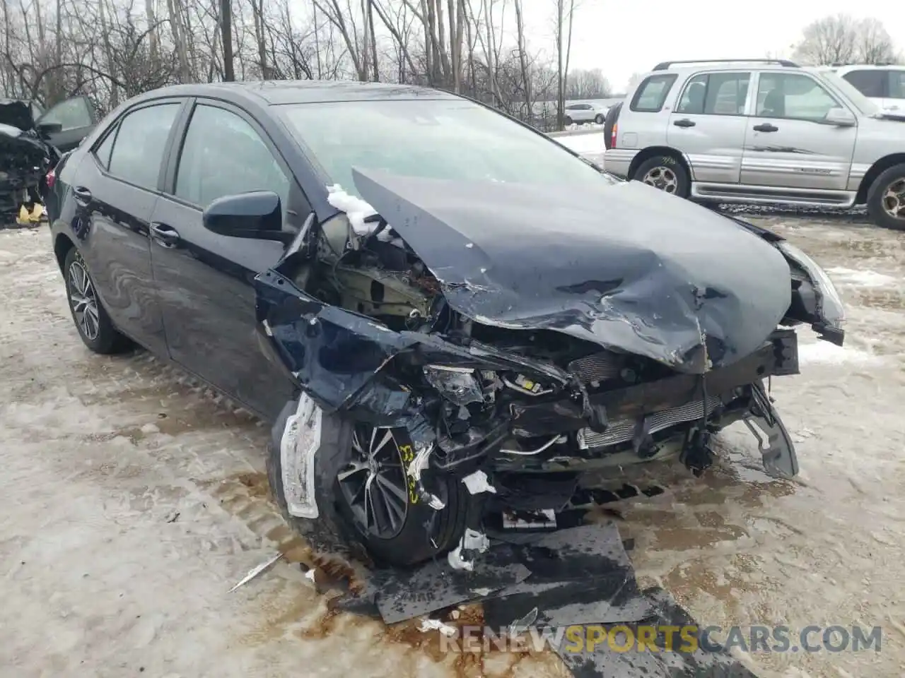
[(157, 104), (127, 113), (113, 142), (110, 174), (156, 191), (167, 137), (181, 106), (181, 103)]

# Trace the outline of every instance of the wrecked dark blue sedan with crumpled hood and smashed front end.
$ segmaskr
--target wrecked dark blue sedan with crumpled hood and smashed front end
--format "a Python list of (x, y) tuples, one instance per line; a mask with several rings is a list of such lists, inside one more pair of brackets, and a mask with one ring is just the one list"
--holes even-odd
[(82, 341), (271, 420), (271, 489), (321, 549), (468, 568), (494, 516), (554, 527), (600, 466), (700, 472), (739, 420), (794, 476), (765, 383), (798, 372), (795, 325), (843, 342), (832, 283), (782, 238), (441, 91), (158, 89), (56, 177)]

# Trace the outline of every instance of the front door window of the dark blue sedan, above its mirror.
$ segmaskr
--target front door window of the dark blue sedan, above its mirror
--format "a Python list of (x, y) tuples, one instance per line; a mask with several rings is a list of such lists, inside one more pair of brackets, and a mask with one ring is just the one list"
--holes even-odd
[(224, 195), (273, 191), (283, 210), (290, 181), (261, 136), (225, 108), (199, 104), (179, 155), (176, 195), (202, 209)]

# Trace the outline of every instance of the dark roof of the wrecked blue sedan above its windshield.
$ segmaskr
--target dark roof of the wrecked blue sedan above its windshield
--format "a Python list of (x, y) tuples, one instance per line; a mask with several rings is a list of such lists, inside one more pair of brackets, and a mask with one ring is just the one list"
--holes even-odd
[(257, 99), (263, 105), (386, 99), (460, 99), (442, 89), (355, 80), (249, 80), (192, 83), (152, 89), (139, 99), (164, 97)]

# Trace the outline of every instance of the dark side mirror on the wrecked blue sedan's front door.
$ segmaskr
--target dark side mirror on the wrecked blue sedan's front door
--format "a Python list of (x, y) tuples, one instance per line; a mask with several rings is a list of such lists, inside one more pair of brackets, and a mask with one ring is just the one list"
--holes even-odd
[(289, 243), (295, 237), (282, 230), (280, 196), (272, 191), (224, 195), (207, 205), (201, 219), (208, 231), (230, 238)]

